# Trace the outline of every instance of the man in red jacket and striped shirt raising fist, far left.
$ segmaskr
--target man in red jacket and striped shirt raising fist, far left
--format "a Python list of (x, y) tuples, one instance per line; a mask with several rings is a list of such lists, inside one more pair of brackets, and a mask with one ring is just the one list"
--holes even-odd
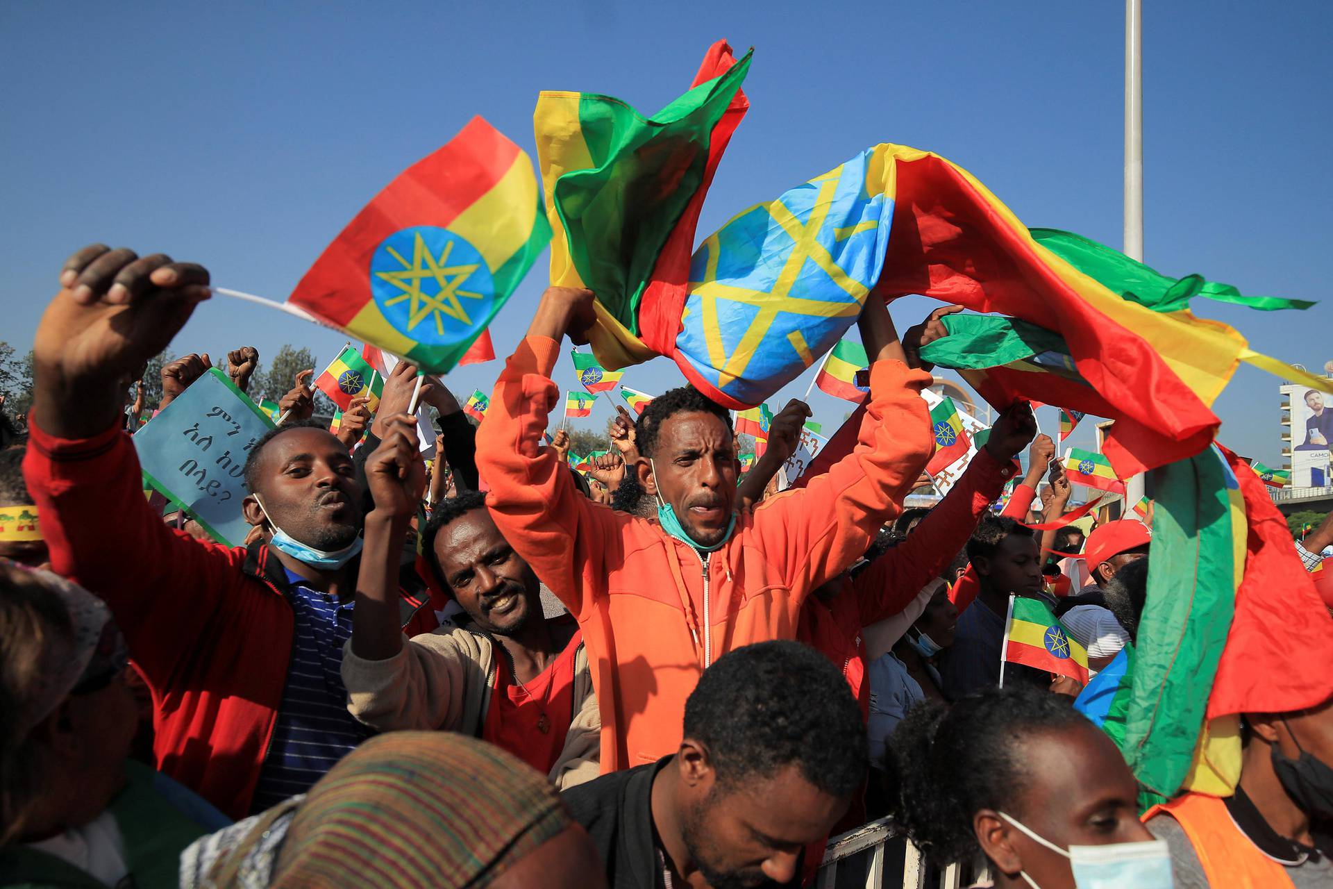
[[(52, 566), (124, 632), (152, 688), (157, 768), (232, 817), (268, 808), (367, 734), (340, 674), (364, 524), (352, 458), (325, 429), (279, 427), (245, 466), (245, 516), (269, 542), (168, 529), (144, 501), (121, 395), (208, 299), (208, 272), (96, 245), (60, 284), (33, 344), (24, 460)], [(403, 622), (420, 625), (424, 606), (404, 597)]]

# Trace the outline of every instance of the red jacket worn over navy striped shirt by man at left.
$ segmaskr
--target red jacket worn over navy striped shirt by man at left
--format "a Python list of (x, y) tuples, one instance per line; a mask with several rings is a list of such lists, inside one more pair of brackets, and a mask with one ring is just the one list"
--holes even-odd
[[(233, 818), (248, 814), (287, 684), (296, 620), (268, 546), (192, 538), (144, 500), (129, 436), (65, 440), (31, 419), (24, 477), (53, 569), (100, 596), (153, 698), (161, 772)], [(404, 622), (435, 620), (404, 598)]]

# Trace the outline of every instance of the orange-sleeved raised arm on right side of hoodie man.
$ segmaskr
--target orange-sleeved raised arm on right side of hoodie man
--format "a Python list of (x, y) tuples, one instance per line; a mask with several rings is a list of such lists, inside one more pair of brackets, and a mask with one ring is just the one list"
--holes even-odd
[(782, 492), (754, 510), (760, 545), (788, 565), (792, 588), (809, 590), (858, 558), (934, 449), (921, 389), (930, 375), (904, 361), (888, 309), (874, 296), (861, 315), (870, 364), (870, 399), (850, 454), (804, 489)]

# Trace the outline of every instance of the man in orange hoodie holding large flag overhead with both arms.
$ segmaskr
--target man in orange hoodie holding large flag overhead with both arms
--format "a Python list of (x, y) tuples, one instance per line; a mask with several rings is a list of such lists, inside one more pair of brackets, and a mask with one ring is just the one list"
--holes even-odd
[(724, 653), (794, 638), (806, 594), (856, 561), (893, 518), (934, 448), (921, 389), (884, 303), (860, 319), (870, 357), (860, 443), (829, 472), (738, 514), (730, 415), (686, 387), (640, 419), (639, 481), (657, 520), (591, 502), (540, 446), (567, 332), (588, 329), (592, 293), (549, 288), (496, 383), (477, 432), (487, 505), (515, 550), (579, 620), (601, 709), (601, 768), (680, 746), (685, 698)]

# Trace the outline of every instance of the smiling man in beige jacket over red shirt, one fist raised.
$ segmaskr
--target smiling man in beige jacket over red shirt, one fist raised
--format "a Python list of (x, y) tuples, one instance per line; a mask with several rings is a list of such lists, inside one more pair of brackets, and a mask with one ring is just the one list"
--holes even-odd
[[(376, 510), (400, 493), (415, 508), (405, 488), (420, 472), (411, 417), (395, 417), (365, 465)], [(373, 558), (369, 537), (343, 654), (352, 716), (381, 732), (480, 737), (561, 789), (597, 777), (601, 720), (579, 626), (568, 614), (543, 617), (537, 576), (500, 534), (484, 494), (441, 501), (423, 534), (428, 580), (463, 606), (457, 626), (403, 638), (392, 598), (399, 549)]]

